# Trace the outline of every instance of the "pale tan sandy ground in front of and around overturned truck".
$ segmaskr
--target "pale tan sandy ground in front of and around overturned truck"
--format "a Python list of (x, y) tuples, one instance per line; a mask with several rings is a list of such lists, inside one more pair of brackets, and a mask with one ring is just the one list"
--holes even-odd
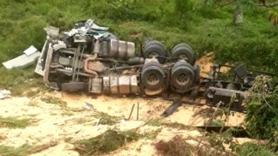
[[(202, 74), (207, 74), (213, 57), (212, 53), (197, 61), (201, 66)], [(42, 101), (43, 97), (56, 97), (66, 102), (66, 108), (59, 104)], [(93, 108), (88, 108), (91, 104)], [(95, 111), (108, 113), (109, 116), (128, 118), (130, 110), (135, 104), (130, 120), (122, 120), (112, 126), (98, 124), (100, 118), (93, 116)], [(139, 104), (139, 118), (137, 120), (137, 104)], [(200, 138), (202, 131), (197, 129), (181, 129), (171, 126), (150, 126), (151, 119), (158, 119), (165, 123), (182, 123), (185, 126), (204, 126), (210, 116), (196, 115), (207, 106), (184, 105), (177, 109), (168, 118), (160, 116), (171, 101), (162, 98), (147, 98), (140, 96), (88, 96), (86, 94), (67, 94), (60, 91), (49, 91), (34, 97), (11, 97), (0, 100), (0, 117), (30, 118), (32, 123), (26, 128), (0, 128), (0, 145), (20, 147), (24, 144), (45, 145), (57, 142), (53, 147), (39, 151), (32, 155), (79, 155), (74, 151), (76, 140), (96, 137), (106, 130), (130, 130), (139, 128), (140, 133), (160, 130), (155, 140), (140, 139), (129, 143), (108, 155), (157, 155), (153, 143), (159, 140), (170, 140), (175, 135)], [(226, 126), (240, 126), (244, 122), (243, 113), (233, 113)], [(240, 143), (249, 141), (246, 138), (237, 138)], [(197, 142), (190, 140), (190, 144)]]

